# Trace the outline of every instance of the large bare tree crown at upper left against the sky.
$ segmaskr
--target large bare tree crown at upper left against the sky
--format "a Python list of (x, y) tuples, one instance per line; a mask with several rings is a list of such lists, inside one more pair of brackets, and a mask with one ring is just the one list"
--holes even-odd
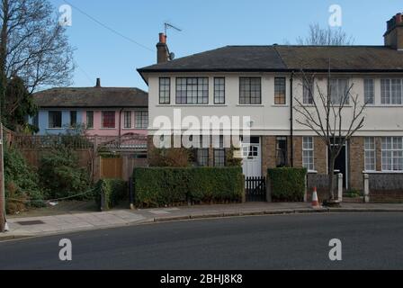
[(30, 93), (71, 82), (73, 49), (48, 0), (0, 0), (0, 73), (19, 76)]

